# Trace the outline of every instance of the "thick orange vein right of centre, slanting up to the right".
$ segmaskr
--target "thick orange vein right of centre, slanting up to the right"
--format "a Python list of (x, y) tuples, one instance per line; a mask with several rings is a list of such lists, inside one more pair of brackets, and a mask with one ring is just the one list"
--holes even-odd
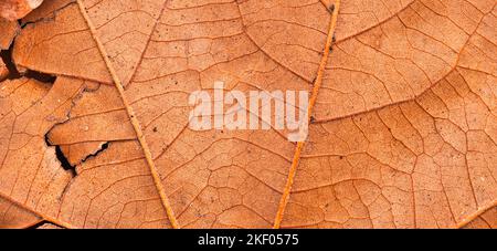
[[(309, 106), (308, 106), (308, 109), (307, 109), (307, 119), (308, 119), (308, 122), (311, 121), (313, 109), (314, 109), (314, 106), (316, 105), (316, 100), (317, 100), (318, 94), (319, 94), (319, 88), (321, 87), (321, 84), (322, 84), (322, 77), (325, 75), (326, 65), (328, 64), (328, 57), (329, 57), (329, 54), (330, 54), (330, 49), (331, 49), (331, 46), (334, 44), (334, 36), (335, 36), (335, 30), (336, 30), (336, 27), (337, 27), (337, 20), (338, 20), (338, 12), (339, 12), (339, 10), (340, 10), (340, 0), (336, 0), (335, 1), (334, 12), (332, 12), (332, 15), (331, 15), (331, 21), (330, 21), (330, 24), (329, 24), (329, 31), (328, 31), (328, 38), (326, 40), (325, 51), (322, 52), (321, 62), (319, 64), (317, 77), (316, 77), (316, 81), (315, 81), (314, 87), (313, 87), (313, 95), (310, 97)], [(281, 224), (282, 224), (282, 220), (283, 220), (283, 217), (285, 215), (285, 209), (286, 209), (286, 206), (288, 203), (289, 195), (292, 192), (292, 187), (294, 185), (295, 175), (297, 172), (297, 167), (298, 167), (298, 164), (300, 161), (300, 155), (302, 155), (302, 150), (304, 148), (304, 145), (305, 145), (305, 142), (299, 142), (297, 144), (296, 149), (295, 149), (294, 158), (293, 158), (293, 161), (292, 161), (292, 167), (289, 169), (288, 178), (287, 178), (286, 185), (285, 185), (285, 189), (283, 191), (282, 199), (279, 201), (278, 211), (276, 212), (276, 219), (275, 219), (274, 226), (273, 226), (274, 229), (278, 229), (281, 227)]]

